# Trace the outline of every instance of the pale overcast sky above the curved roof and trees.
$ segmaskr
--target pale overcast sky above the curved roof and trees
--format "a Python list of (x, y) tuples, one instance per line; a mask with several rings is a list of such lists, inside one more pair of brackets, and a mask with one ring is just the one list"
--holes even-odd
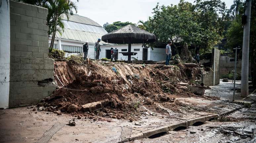
[[(76, 1), (76, 0), (72, 0)], [(159, 5), (176, 5), (180, 0), (79, 0), (76, 14), (88, 17), (101, 26), (115, 21), (138, 23), (139, 20), (147, 21), (153, 14), (157, 2)], [(195, 0), (185, 0), (193, 3)], [(222, 0), (227, 8), (233, 0)]]

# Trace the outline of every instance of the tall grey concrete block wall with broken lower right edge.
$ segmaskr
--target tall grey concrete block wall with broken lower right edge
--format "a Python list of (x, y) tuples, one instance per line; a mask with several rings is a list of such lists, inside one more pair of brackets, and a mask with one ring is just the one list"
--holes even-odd
[(48, 58), (48, 9), (10, 1), (9, 107), (40, 102), (55, 86), (39, 84), (54, 80), (54, 60)]

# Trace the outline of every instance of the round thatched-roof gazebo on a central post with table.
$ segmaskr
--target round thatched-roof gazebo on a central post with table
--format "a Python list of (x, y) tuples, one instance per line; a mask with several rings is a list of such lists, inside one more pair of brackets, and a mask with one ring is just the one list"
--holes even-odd
[(102, 36), (102, 40), (107, 43), (128, 44), (128, 52), (122, 54), (131, 60), (131, 55), (137, 54), (131, 52), (131, 44), (154, 42), (156, 37), (152, 33), (129, 24)]

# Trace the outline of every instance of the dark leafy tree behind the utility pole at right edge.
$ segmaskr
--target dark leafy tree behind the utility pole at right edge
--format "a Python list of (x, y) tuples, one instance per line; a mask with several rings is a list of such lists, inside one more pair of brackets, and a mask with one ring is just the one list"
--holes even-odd
[[(241, 5), (245, 5), (242, 2)], [(251, 62), (251, 77), (253, 86), (256, 87), (256, 0), (252, 0), (251, 3), (251, 24), (250, 24), (250, 43), (249, 43), (249, 59)], [(228, 43), (227, 47), (233, 50), (237, 45), (242, 46), (243, 44), (243, 27), (241, 25), (242, 14), (244, 13), (243, 7), (238, 7), (238, 12), (235, 20), (232, 21), (230, 27), (228, 28), (227, 37)], [(242, 52), (242, 50), (240, 50)], [(241, 55), (241, 53), (240, 53)]]

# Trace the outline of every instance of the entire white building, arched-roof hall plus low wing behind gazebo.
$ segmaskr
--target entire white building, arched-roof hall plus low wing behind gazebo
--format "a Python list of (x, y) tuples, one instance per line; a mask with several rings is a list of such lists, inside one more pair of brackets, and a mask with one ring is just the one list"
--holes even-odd
[[(66, 53), (65, 57), (67, 57), (69, 55), (83, 53), (83, 44), (85, 41), (88, 41), (88, 57), (95, 59), (94, 43), (98, 40), (98, 38), (101, 38), (103, 35), (107, 34), (107, 31), (95, 21), (77, 14), (70, 15), (68, 21), (66, 17), (64, 17), (64, 24), (64, 33), (62, 35), (60, 35), (58, 32), (56, 33), (54, 48), (64, 50)], [(51, 43), (51, 39), (52, 38), (50, 37), (49, 45)], [(128, 59), (128, 56), (123, 56), (121, 54), (121, 52), (128, 51), (128, 44), (113, 45), (104, 41), (101, 41), (100, 44), (100, 59), (110, 59), (111, 47), (118, 49), (118, 60)], [(151, 48), (142, 48), (142, 44), (132, 44), (131, 52), (138, 53), (135, 56), (131, 56), (138, 60), (159, 61), (166, 59), (164, 48), (154, 48), (154, 50), (152, 50)]]

